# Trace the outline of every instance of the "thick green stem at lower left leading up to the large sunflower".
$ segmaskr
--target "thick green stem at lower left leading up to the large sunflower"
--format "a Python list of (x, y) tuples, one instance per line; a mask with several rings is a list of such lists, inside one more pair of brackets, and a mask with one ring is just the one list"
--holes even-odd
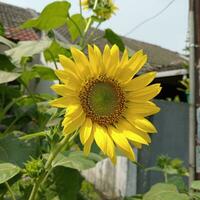
[(67, 144), (68, 140), (69, 140), (69, 136), (67, 135), (57, 144), (57, 146), (52, 151), (52, 153), (50, 153), (49, 158), (48, 158), (48, 160), (47, 160), (47, 162), (46, 162), (46, 164), (44, 166), (44, 168), (46, 170), (46, 174), (41, 175), (41, 177), (38, 178), (36, 183), (34, 183), (32, 191), (31, 191), (31, 194), (30, 194), (28, 200), (34, 200), (35, 199), (40, 185), (44, 184), (44, 182), (46, 181), (48, 175), (52, 171), (51, 164), (52, 164), (53, 160), (56, 158), (58, 153), (63, 149), (63, 147)]

